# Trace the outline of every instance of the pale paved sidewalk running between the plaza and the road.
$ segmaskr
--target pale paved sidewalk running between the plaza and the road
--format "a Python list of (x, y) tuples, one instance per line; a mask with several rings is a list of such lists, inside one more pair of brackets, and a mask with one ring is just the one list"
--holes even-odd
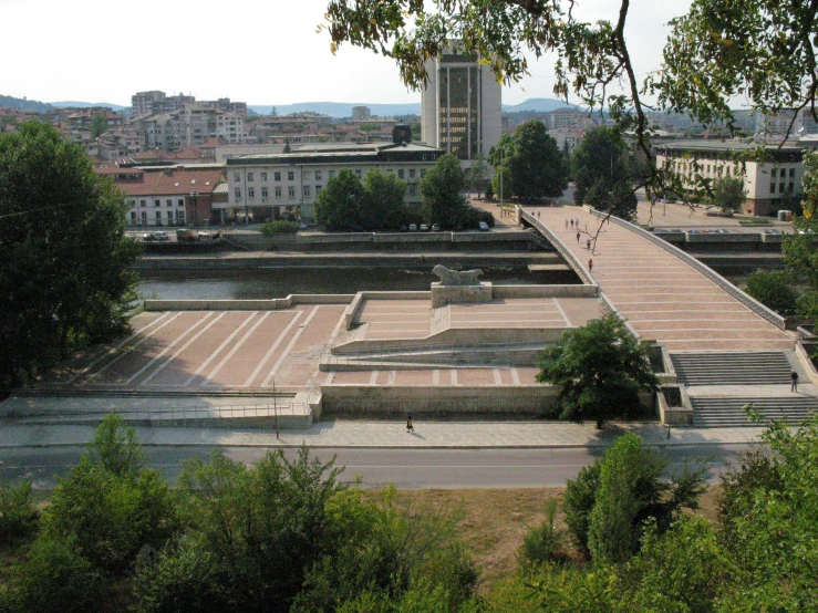
[[(92, 426), (24, 426), (0, 428), (0, 449), (76, 447), (91, 440)], [(146, 447), (299, 447), (314, 448), (565, 448), (607, 447), (625, 432), (634, 432), (648, 445), (742, 445), (758, 439), (763, 427), (667, 428), (657, 424), (593, 424), (552, 422), (423, 422), (415, 432), (403, 422), (320, 422), (306, 430), (138, 427)]]

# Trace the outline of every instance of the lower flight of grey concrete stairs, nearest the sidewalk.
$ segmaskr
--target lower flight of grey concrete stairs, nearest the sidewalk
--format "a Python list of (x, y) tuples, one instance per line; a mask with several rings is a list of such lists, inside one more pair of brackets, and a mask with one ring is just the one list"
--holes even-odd
[[(818, 398), (754, 398), (738, 396), (693, 397), (693, 425), (696, 427), (756, 426), (775, 419), (798, 424), (818, 411)], [(760, 422), (747, 418), (745, 406), (752, 404)]]

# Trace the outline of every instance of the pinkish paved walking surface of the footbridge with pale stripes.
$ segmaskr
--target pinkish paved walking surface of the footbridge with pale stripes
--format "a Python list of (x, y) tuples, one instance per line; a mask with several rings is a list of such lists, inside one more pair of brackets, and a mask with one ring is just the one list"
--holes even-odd
[[(669, 351), (791, 350), (795, 340), (742, 304), (684, 260), (580, 207), (540, 208), (538, 220), (588, 268), (619, 312)], [(579, 219), (577, 229), (566, 220)]]

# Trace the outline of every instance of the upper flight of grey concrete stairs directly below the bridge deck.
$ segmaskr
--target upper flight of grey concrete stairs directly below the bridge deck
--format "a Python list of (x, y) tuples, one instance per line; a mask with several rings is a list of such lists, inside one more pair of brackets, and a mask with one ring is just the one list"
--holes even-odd
[(788, 385), (793, 370), (781, 351), (671, 353), (685, 385)]

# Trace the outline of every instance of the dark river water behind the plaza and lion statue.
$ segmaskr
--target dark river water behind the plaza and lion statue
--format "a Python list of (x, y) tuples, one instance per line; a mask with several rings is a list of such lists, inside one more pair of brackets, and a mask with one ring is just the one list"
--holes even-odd
[[(574, 284), (573, 272), (529, 272), (526, 268), (483, 268), (482, 281), (496, 285)], [(145, 299), (265, 300), (291, 293), (428, 290), (437, 277), (427, 269), (289, 268), (263, 270), (141, 271)]]

